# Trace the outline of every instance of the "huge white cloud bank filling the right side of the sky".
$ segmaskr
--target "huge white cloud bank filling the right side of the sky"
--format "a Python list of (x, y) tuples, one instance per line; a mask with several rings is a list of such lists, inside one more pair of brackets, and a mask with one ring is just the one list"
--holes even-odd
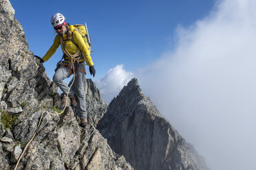
[(220, 1), (178, 27), (177, 47), (136, 73), (145, 95), (210, 169), (255, 169), (256, 1)]

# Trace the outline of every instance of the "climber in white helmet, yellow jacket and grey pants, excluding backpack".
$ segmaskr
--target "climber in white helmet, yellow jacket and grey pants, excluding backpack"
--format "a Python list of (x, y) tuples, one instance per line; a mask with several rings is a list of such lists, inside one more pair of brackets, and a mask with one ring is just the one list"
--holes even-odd
[[(61, 45), (64, 53), (64, 61), (58, 62), (52, 79), (61, 88), (63, 93), (67, 95), (69, 86), (63, 80), (70, 77), (73, 73), (75, 74), (74, 84), (68, 96), (70, 97), (72, 107), (76, 106), (77, 108), (75, 114), (78, 114), (81, 119), (81, 127), (85, 127), (88, 123), (85, 101), (85, 61), (89, 65), (90, 74), (93, 76), (96, 73), (94, 63), (92, 62), (90, 51), (85, 45), (85, 40), (83, 40), (83, 37), (74, 25), (66, 23), (65, 17), (60, 13), (52, 16), (51, 23), (58, 34), (54, 38), (52, 47), (47, 51), (41, 62), (49, 60), (59, 45)], [(78, 58), (78, 61), (74, 64), (74, 68), (72, 68), (72, 64), (70, 63), (72, 56)]]

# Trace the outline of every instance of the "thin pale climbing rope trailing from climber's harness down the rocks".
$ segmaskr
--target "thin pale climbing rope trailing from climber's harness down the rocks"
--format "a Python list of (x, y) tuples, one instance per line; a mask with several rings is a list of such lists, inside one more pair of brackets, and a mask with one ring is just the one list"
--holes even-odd
[[(68, 94), (70, 93), (70, 89), (71, 89), (71, 87), (73, 86), (74, 80), (75, 80), (75, 78), (76, 78), (76, 73), (75, 73), (75, 70), (74, 70), (74, 63), (75, 63), (76, 61), (78, 62), (78, 60), (81, 60), (81, 58), (77, 58), (77, 57), (76, 57), (76, 54), (70, 55), (70, 53), (69, 53), (69, 56), (70, 56), (69, 63), (72, 63), (72, 68), (73, 68), (73, 71), (74, 71), (74, 79), (73, 79), (72, 84), (70, 85), (70, 88), (69, 88), (68, 91), (67, 91), (67, 97), (68, 97)], [(63, 112), (65, 111), (65, 109), (66, 109), (66, 107), (67, 107), (67, 97), (66, 97), (66, 101), (65, 101), (65, 106), (64, 106), (63, 110), (62, 110), (60, 113), (52, 113), (52, 112), (49, 112), (49, 113), (52, 114), (52, 115), (60, 115), (60, 114), (63, 114)], [(18, 165), (19, 165), (19, 162), (21, 161), (21, 158), (23, 157), (23, 154), (25, 153), (25, 150), (28, 149), (28, 145), (30, 145), (30, 143), (33, 141), (34, 137), (36, 136), (36, 133), (37, 133), (37, 131), (39, 130), (39, 126), (41, 125), (41, 121), (42, 121), (42, 119), (43, 119), (43, 114), (44, 114), (45, 112), (46, 112), (46, 111), (43, 111), (43, 112), (42, 112), (41, 117), (40, 117), (40, 120), (39, 120), (39, 124), (37, 125), (37, 128), (36, 128), (36, 132), (34, 132), (34, 135), (32, 136), (32, 138), (30, 139), (30, 141), (29, 141), (29, 142), (27, 143), (27, 145), (25, 146), (25, 148), (24, 148), (24, 150), (23, 150), (21, 156), (19, 157), (19, 160), (18, 160), (18, 162), (17, 162), (17, 164), (16, 164), (14, 170), (17, 169), (17, 167), (18, 167)]]

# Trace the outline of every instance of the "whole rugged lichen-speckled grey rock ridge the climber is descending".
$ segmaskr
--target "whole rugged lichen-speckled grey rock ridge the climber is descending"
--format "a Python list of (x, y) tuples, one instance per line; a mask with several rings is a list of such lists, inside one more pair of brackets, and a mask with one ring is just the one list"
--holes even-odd
[(28, 49), (9, 1), (0, 0), (0, 13), (0, 169), (14, 169), (44, 111), (18, 169), (133, 169), (94, 127), (107, 104), (92, 80), (87, 80), (87, 127), (79, 127), (69, 102), (61, 117), (50, 114), (57, 113), (54, 107), (63, 108), (65, 96), (57, 93), (43, 64)]

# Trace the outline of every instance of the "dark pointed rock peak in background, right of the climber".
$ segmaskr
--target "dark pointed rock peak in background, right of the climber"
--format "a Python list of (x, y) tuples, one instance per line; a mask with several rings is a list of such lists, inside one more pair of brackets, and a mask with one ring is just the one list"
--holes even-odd
[(136, 79), (111, 101), (97, 129), (134, 169), (208, 169), (193, 146), (160, 117)]

